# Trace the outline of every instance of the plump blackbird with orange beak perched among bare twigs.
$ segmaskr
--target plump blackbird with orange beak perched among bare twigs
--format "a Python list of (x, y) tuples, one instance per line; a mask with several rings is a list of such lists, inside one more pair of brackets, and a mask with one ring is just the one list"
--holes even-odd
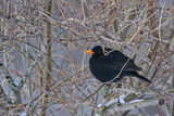
[(96, 46), (87, 52), (92, 54), (89, 59), (90, 72), (101, 82), (117, 82), (124, 76), (135, 76), (140, 80), (151, 82), (136, 72), (141, 68), (136, 66), (132, 59), (117, 50), (103, 50), (100, 46)]

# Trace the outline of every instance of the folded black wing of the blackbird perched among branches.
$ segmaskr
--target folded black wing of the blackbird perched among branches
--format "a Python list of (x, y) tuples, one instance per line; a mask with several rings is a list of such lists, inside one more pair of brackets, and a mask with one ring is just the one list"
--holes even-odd
[(114, 50), (109, 55), (103, 55), (99, 59), (100, 65), (104, 68), (121, 70), (141, 70), (140, 67), (134, 64), (134, 61), (124, 55), (120, 51)]

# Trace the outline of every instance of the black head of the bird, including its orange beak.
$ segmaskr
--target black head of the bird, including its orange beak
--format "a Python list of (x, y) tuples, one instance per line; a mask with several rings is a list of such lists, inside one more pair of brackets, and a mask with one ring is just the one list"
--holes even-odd
[(98, 56), (98, 57), (104, 55), (103, 50), (100, 46), (96, 46), (92, 48), (92, 50), (88, 50), (87, 52), (91, 53), (92, 56)]

